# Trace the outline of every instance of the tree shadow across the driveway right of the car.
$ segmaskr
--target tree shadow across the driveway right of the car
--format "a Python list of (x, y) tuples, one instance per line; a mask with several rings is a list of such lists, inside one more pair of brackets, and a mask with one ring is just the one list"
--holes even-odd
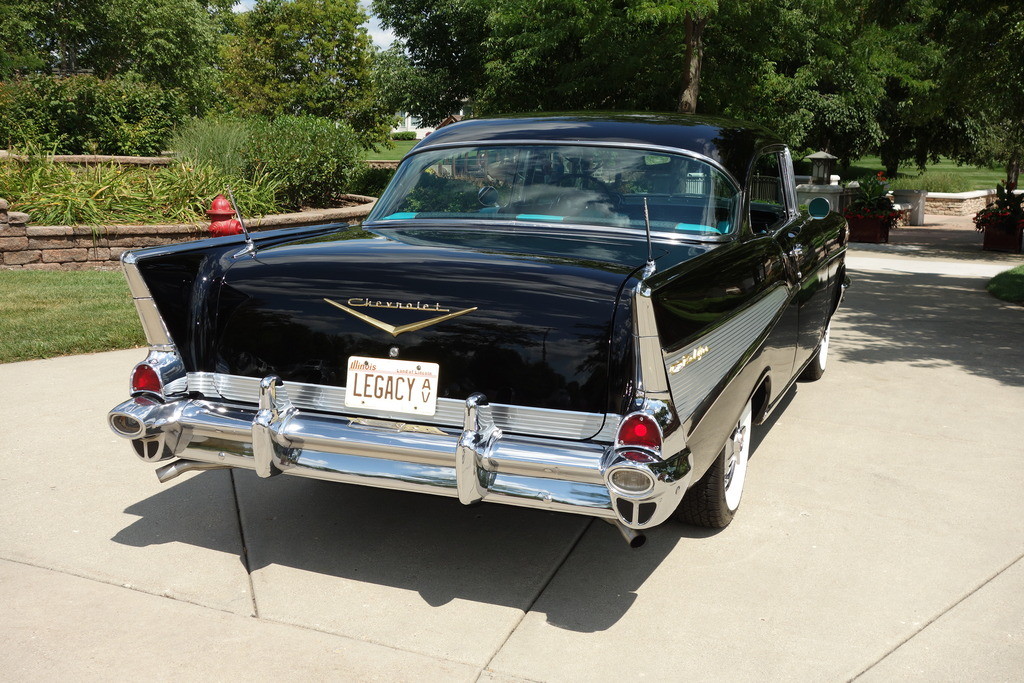
[(951, 364), (1024, 386), (1024, 310), (989, 295), (984, 279), (863, 270), (851, 279), (833, 335), (837, 359)]

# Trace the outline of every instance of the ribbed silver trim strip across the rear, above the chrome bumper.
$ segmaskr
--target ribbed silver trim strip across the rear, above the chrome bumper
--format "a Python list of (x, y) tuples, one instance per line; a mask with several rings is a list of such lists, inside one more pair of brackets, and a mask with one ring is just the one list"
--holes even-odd
[[(220, 399), (237, 403), (257, 404), (259, 402), (260, 380), (255, 377), (226, 375), (221, 373), (188, 373), (187, 391), (198, 393), (208, 399)], [(345, 388), (327, 384), (304, 382), (284, 382), (278, 387), (280, 400), (288, 400), (295, 408), (337, 415), (352, 415), (409, 422), (411, 416), (384, 411), (369, 411), (345, 405)], [(527, 408), (492, 403), (490, 416), (495, 425), (507, 432), (532, 436), (553, 436), (573, 440), (591, 439), (610, 443), (618, 428), (622, 416), (603, 413), (577, 413), (545, 408)], [(283, 405), (282, 405), (283, 409)], [(438, 398), (437, 412), (429, 420), (417, 420), (427, 424), (462, 427), (466, 410), (465, 399)]]

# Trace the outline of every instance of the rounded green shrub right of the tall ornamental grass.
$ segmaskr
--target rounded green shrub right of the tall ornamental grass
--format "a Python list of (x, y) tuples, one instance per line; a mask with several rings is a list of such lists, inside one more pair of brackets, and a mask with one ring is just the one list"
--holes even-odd
[(276, 179), (288, 208), (331, 206), (361, 170), (362, 152), (347, 124), (283, 116), (252, 119), (249, 129), (249, 172), (262, 170)]

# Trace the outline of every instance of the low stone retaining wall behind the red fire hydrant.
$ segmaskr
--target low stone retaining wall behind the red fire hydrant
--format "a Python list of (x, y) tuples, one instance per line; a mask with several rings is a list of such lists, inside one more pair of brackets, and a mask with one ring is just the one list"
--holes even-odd
[[(263, 216), (247, 221), (252, 231), (357, 223), (370, 213), (376, 199), (347, 195), (356, 206)], [(29, 216), (7, 211), (0, 200), (0, 268), (26, 270), (94, 270), (117, 268), (121, 254), (141, 247), (191, 242), (209, 237), (206, 225), (43, 225), (30, 226)]]

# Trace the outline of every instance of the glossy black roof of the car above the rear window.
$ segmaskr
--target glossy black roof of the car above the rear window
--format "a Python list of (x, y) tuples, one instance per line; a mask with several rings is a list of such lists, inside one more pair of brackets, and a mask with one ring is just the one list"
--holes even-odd
[(713, 159), (742, 181), (751, 160), (780, 141), (750, 123), (692, 114), (586, 112), (465, 119), (430, 133), (416, 152), (470, 142), (621, 142), (693, 152)]

